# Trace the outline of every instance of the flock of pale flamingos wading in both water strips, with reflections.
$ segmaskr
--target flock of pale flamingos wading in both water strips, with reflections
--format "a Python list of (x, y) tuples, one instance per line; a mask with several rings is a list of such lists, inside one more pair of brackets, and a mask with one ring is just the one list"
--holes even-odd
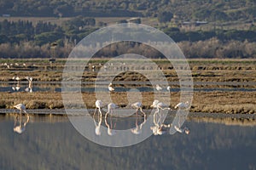
[[(25, 89), (26, 92), (32, 92), (32, 77), (25, 77), (26, 80), (28, 81), (28, 88)], [(19, 84), (20, 84), (20, 77), (13, 77), (13, 79), (15, 81), (17, 81), (17, 85), (16, 85), (16, 88), (17, 87), (20, 87)], [(161, 91), (162, 88), (160, 87), (160, 85), (156, 85), (156, 90), (158, 91)], [(170, 89), (171, 87), (168, 86), (166, 88), (169, 92), (170, 92)], [(14, 89), (15, 90), (15, 89)], [(17, 89), (16, 89), (17, 90)], [(19, 89), (18, 89), (19, 90)], [(17, 91), (18, 91), (17, 90)], [(112, 83), (109, 83), (108, 85), (108, 90), (110, 92), (113, 92), (114, 91), (114, 88), (113, 88), (113, 84)], [(93, 118), (94, 118), (94, 122), (95, 122), (95, 125), (96, 125), (96, 135), (101, 135), (101, 124), (102, 124), (102, 107), (104, 107), (105, 105), (103, 105), (102, 103), (102, 100), (100, 99), (97, 99), (96, 100), (96, 110), (98, 110), (98, 113), (99, 113), (99, 118), (98, 118), (98, 122), (95, 121), (95, 114), (96, 114), (96, 110), (94, 111), (94, 115), (93, 115)], [(113, 135), (113, 131), (112, 131), (112, 128), (110, 127), (110, 125), (108, 124), (108, 115), (112, 115), (113, 113), (113, 110), (118, 108), (119, 106), (118, 105), (115, 105), (113, 103), (110, 103), (108, 104), (108, 111), (106, 112), (105, 114), (105, 124), (106, 124), (106, 127), (108, 127), (108, 135)], [(151, 130), (153, 131), (154, 135), (158, 135), (158, 134), (163, 134), (165, 131), (164, 131), (164, 128), (166, 127), (171, 127), (171, 124), (164, 124), (163, 122), (160, 122), (160, 117), (158, 117), (158, 114), (160, 113), (160, 111), (164, 111), (164, 110), (169, 110), (171, 111), (172, 109), (170, 107), (168, 107), (168, 105), (160, 102), (159, 100), (154, 100), (154, 102), (152, 103), (152, 105), (150, 106), (154, 109), (156, 109), (156, 111), (154, 112), (154, 127), (151, 127)], [(27, 122), (29, 122), (29, 114), (26, 112), (26, 106), (24, 104), (18, 104), (18, 105), (14, 105), (14, 108), (19, 110), (20, 111), (20, 120), (21, 120), (21, 115), (22, 115), (22, 112), (24, 112), (26, 114), (26, 122), (24, 123), (19, 123), (19, 125), (16, 125), (14, 127), (14, 131), (16, 133), (23, 133), (26, 129), (26, 124)], [(138, 126), (138, 124), (136, 123), (136, 127), (135, 128), (132, 128), (131, 129), (131, 132), (132, 133), (135, 133), (135, 134), (139, 134), (140, 133), (140, 130), (142, 129), (143, 127), (143, 124), (146, 122), (146, 114), (145, 112), (143, 111), (143, 105), (142, 105), (142, 102), (136, 102), (136, 103), (133, 103), (131, 104), (131, 108), (134, 108), (136, 109), (136, 113), (138, 111), (141, 111), (141, 113), (143, 113), (143, 117), (144, 117), (144, 122), (140, 124), (140, 126)], [(174, 109), (178, 109), (178, 110), (185, 110), (189, 108), (189, 102), (186, 101), (186, 102), (180, 102), (178, 103)], [(15, 120), (15, 124), (17, 124), (18, 122), (18, 116), (16, 116), (16, 120)], [(186, 134), (189, 134), (189, 128), (188, 127), (181, 127), (180, 125), (178, 126), (174, 126), (174, 128), (176, 129), (176, 131), (178, 133), (186, 133)]]

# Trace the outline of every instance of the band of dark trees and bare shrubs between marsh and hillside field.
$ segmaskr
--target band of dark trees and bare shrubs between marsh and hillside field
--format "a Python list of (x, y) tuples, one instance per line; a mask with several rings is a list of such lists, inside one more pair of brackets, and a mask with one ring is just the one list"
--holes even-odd
[[(3, 20), (0, 22), (0, 58), (49, 58), (50, 44), (53, 42), (58, 45), (56, 56), (67, 58), (77, 42), (98, 28), (94, 18), (82, 16), (67, 20), (61, 26), (44, 22), (33, 26), (29, 21)], [(178, 27), (163, 27), (161, 30), (178, 42), (189, 58), (256, 57), (255, 26), (247, 31), (181, 31)], [(125, 43), (125, 46), (110, 45), (99, 51), (96, 57), (113, 57), (125, 53), (162, 57), (153, 48), (131, 42)]]

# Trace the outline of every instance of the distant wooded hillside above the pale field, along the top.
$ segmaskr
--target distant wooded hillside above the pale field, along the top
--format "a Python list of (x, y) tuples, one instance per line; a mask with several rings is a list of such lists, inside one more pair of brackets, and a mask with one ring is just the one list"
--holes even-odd
[(164, 16), (160, 20), (167, 20), (171, 12), (180, 20), (230, 21), (255, 19), (254, 3), (255, 0), (1, 0), (0, 11), (11, 16), (41, 17)]

